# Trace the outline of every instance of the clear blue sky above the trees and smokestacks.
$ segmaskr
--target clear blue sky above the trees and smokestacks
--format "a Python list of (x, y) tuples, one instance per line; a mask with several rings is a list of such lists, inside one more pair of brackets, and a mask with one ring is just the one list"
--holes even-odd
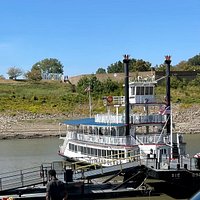
[(200, 0), (0, 0), (0, 75), (56, 58), (69, 76), (123, 54), (152, 66), (200, 53)]

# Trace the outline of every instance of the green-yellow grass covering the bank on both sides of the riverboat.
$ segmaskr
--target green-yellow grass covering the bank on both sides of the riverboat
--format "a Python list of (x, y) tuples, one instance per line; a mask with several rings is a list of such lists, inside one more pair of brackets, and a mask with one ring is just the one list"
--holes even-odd
[[(165, 87), (158, 86), (156, 94), (164, 96)], [(199, 104), (200, 87), (172, 89), (171, 96), (174, 103)], [(105, 112), (102, 99), (94, 99), (97, 98), (93, 96), (93, 113)], [(0, 112), (12, 115), (17, 112), (88, 114), (88, 96), (72, 93), (71, 85), (56, 81), (4, 81), (0, 82)]]

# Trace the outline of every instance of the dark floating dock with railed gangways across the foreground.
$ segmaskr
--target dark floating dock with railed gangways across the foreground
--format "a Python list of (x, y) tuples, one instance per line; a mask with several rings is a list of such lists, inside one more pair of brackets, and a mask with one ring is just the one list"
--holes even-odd
[[(102, 167), (80, 162), (55, 161), (40, 166), (0, 174), (0, 199), (45, 199), (48, 170), (55, 169), (66, 183), (69, 199), (154, 196), (173, 186), (171, 193), (187, 191), (190, 197), (200, 189), (200, 169), (192, 159), (158, 163), (157, 159), (134, 159)], [(153, 184), (149, 180), (154, 180)], [(156, 185), (156, 182), (159, 184)], [(168, 185), (164, 187), (163, 185)], [(162, 188), (163, 186), (163, 188)]]

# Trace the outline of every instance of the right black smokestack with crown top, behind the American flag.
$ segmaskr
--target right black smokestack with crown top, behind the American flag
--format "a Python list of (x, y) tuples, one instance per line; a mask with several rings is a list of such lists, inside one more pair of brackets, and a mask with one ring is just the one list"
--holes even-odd
[(167, 134), (171, 133), (171, 102), (170, 102), (170, 63), (171, 56), (165, 56), (166, 64), (166, 114), (167, 114)]

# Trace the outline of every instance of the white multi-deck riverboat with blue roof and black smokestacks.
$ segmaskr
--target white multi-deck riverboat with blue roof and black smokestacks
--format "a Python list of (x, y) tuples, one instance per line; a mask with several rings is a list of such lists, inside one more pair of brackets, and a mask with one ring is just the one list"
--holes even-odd
[[(62, 123), (66, 135), (59, 155), (67, 160), (111, 166), (138, 158), (178, 159), (185, 156), (181, 134), (172, 133), (170, 92), (166, 98), (155, 95), (155, 77), (129, 81), (125, 66), (125, 96), (103, 97), (104, 114)], [(169, 70), (169, 66), (168, 66)], [(168, 81), (169, 72), (166, 76)], [(168, 83), (169, 84), (169, 83)]]

